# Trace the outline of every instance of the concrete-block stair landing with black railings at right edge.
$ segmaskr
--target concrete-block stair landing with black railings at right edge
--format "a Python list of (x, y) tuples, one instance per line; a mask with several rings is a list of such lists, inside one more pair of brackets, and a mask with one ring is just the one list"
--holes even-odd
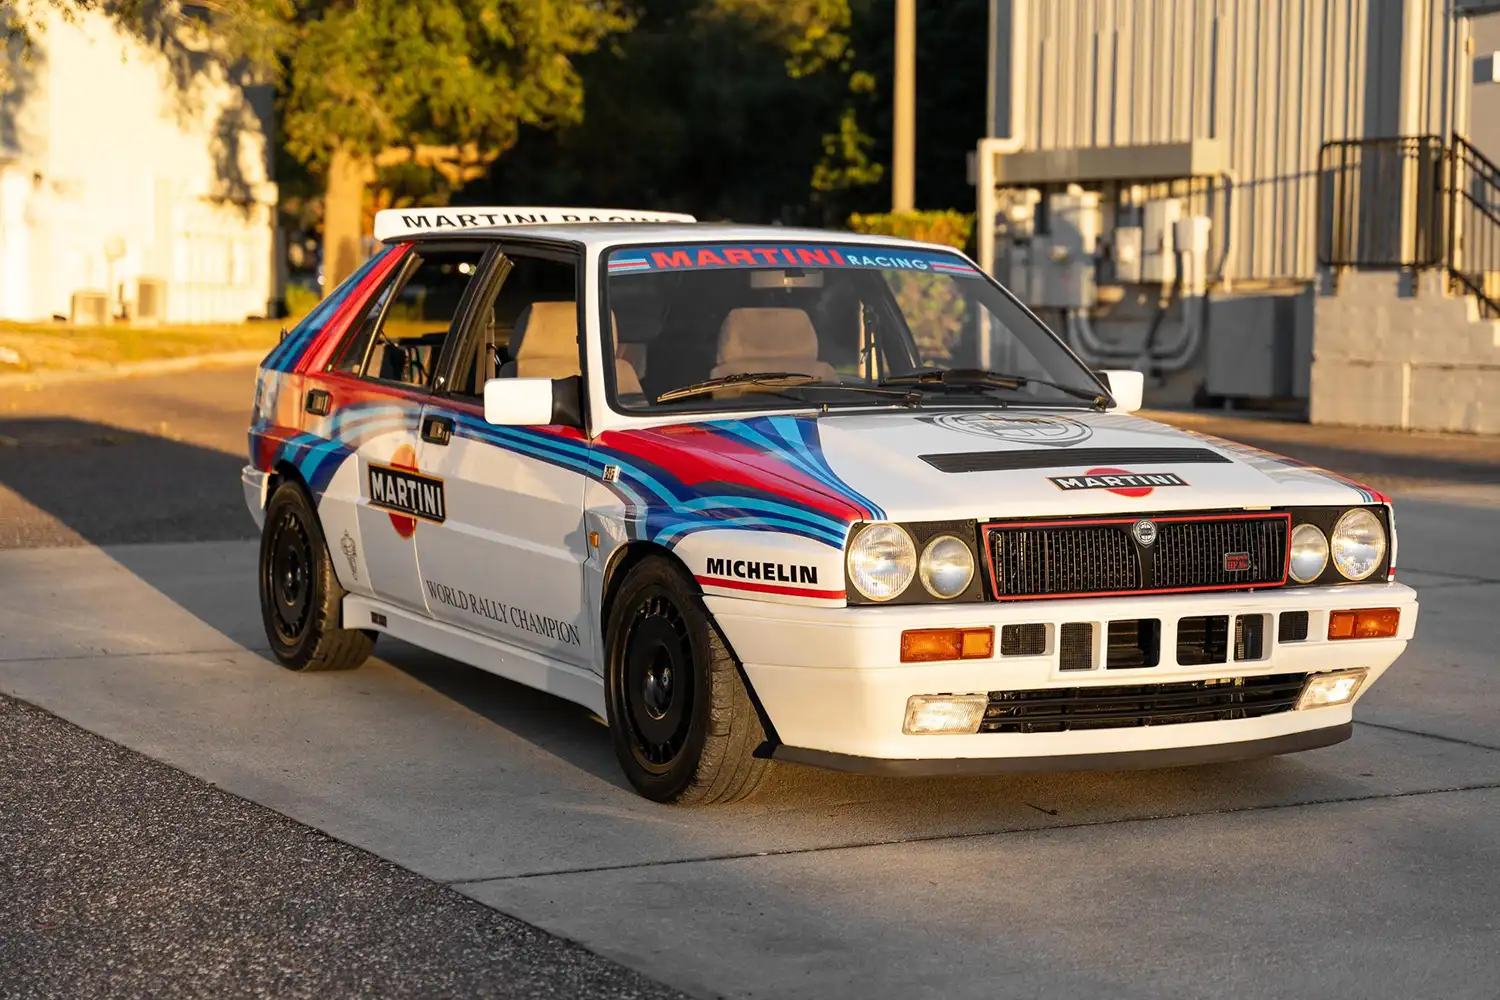
[(1329, 142), (1312, 423), (1500, 433), (1500, 168), (1461, 136)]

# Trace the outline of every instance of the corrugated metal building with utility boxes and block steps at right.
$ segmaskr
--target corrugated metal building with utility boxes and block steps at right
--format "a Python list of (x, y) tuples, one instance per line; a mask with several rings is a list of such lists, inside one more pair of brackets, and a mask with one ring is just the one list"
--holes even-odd
[(1497, 432), (1497, 9), (992, 0), (981, 259), (1152, 402)]

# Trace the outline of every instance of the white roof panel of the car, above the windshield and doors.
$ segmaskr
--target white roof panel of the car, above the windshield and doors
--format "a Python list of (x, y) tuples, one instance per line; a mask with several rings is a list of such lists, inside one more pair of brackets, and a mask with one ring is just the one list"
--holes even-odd
[(570, 222), (570, 223), (536, 223), (536, 225), (504, 225), (476, 226), (462, 231), (430, 231), (414, 232), (410, 237), (393, 237), (398, 240), (502, 240), (530, 237), (537, 240), (558, 240), (578, 243), (586, 249), (602, 249), (608, 246), (634, 246), (650, 243), (860, 243), (866, 246), (904, 246), (954, 253), (951, 246), (940, 243), (922, 243), (920, 240), (903, 240), (888, 235), (867, 235), (862, 232), (843, 232), (832, 229), (812, 229), (795, 226), (765, 226), (717, 222)]

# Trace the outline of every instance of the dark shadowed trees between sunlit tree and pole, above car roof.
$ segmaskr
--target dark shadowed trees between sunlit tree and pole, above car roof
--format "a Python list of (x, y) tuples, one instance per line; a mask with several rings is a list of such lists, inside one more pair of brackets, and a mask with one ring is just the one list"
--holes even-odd
[(460, 196), (832, 220), (808, 186), (849, 91), (849, 1), (638, 0), (633, 13), (579, 60), (582, 123), (526, 129)]

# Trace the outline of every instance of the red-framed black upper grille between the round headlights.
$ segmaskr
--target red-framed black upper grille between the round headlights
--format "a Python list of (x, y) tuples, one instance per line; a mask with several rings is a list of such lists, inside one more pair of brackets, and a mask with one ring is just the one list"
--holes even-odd
[(1161, 516), (1154, 544), (1136, 517), (986, 525), (999, 600), (1280, 586), (1288, 514)]

